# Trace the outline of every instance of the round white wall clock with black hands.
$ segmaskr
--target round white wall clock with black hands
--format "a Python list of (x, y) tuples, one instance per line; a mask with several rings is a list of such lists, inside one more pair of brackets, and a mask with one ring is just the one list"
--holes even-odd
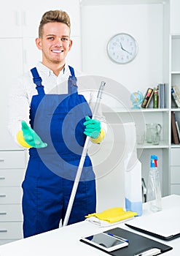
[(126, 64), (136, 57), (138, 45), (130, 34), (115, 34), (107, 44), (107, 53), (111, 61)]

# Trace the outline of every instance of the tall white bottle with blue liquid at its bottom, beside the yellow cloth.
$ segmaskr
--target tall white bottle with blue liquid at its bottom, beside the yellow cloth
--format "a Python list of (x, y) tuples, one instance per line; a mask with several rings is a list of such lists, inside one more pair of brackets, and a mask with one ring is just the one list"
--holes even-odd
[(142, 215), (141, 162), (137, 157), (136, 127), (128, 123), (125, 127), (126, 159), (125, 159), (125, 209)]

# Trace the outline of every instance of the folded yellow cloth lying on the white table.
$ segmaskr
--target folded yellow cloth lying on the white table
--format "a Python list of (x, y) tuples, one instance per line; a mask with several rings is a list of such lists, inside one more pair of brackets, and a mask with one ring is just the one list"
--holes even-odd
[(109, 208), (105, 211), (102, 211), (101, 213), (97, 214), (88, 214), (85, 216), (88, 217), (97, 217), (98, 219), (104, 220), (109, 223), (113, 222), (120, 222), (123, 219), (129, 219), (131, 217), (134, 217), (138, 215), (136, 212), (133, 211), (124, 211), (123, 208)]

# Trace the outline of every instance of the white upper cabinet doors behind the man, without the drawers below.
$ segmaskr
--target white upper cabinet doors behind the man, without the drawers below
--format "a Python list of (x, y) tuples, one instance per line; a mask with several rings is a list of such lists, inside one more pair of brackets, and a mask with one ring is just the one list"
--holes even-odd
[[(15, 79), (34, 67), (42, 59), (41, 51), (36, 48), (39, 22), (48, 10), (66, 10), (71, 18), (71, 37), (74, 40), (69, 64), (81, 69), (80, 15), (78, 0), (44, 0), (37, 4), (35, 0), (4, 1), (4, 10), (0, 17), (0, 56), (1, 56), (1, 100), (0, 100), (0, 149), (19, 150), (7, 131), (9, 91)], [(6, 22), (6, 26), (4, 26)]]

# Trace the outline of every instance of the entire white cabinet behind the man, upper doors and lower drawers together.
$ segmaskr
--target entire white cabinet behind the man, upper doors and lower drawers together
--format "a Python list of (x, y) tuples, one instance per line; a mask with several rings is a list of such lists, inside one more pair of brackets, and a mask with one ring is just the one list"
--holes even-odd
[(10, 0), (3, 3), (0, 16), (0, 244), (23, 238), (21, 184), (26, 170), (26, 151), (14, 143), (7, 130), (9, 91), (17, 77), (42, 59), (35, 44), (42, 15), (60, 9), (68, 12), (71, 18), (74, 43), (69, 64), (81, 69), (79, 0)]

